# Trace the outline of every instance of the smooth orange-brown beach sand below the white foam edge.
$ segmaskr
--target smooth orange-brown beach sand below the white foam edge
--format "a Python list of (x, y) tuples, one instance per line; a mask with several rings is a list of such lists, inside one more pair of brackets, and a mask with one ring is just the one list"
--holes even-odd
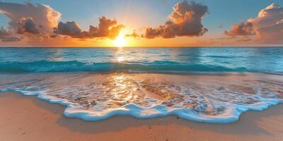
[(230, 124), (186, 121), (176, 116), (115, 116), (88, 122), (66, 118), (64, 106), (16, 92), (0, 93), (0, 140), (283, 140), (283, 104), (248, 111)]

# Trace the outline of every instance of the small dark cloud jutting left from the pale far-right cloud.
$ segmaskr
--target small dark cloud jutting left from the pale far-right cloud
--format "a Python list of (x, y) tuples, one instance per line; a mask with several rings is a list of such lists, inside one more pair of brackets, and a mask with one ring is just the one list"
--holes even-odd
[(246, 22), (246, 23), (237, 23), (231, 27), (231, 30), (225, 31), (225, 35), (228, 36), (246, 36), (246, 35), (255, 35), (253, 29), (253, 23)]

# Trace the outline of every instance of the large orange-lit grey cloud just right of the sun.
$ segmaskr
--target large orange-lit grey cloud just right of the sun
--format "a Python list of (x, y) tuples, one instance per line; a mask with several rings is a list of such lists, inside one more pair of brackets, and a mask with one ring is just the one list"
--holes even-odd
[(173, 12), (164, 25), (156, 28), (147, 27), (142, 37), (153, 39), (155, 37), (173, 38), (176, 36), (201, 36), (207, 32), (207, 28), (202, 25), (202, 18), (207, 13), (207, 6), (197, 4), (195, 1), (179, 2), (173, 7)]

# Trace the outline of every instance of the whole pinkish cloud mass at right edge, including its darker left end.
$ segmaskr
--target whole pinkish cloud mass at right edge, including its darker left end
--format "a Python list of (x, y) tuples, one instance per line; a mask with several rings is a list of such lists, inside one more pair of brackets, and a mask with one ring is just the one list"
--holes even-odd
[(283, 8), (271, 4), (263, 8), (258, 17), (233, 25), (225, 34), (229, 36), (256, 35), (259, 42), (283, 43)]

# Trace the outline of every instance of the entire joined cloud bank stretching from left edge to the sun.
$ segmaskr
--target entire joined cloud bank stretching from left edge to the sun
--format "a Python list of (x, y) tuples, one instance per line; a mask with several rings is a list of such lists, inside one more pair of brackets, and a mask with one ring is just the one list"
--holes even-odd
[[(23, 39), (23, 42), (32, 45), (42, 45), (43, 42), (55, 42), (58, 39), (66, 41), (66, 38), (59, 35), (68, 35), (68, 41), (71, 41), (71, 38), (114, 39), (125, 27), (118, 25), (115, 19), (101, 17), (98, 26), (91, 25), (88, 31), (83, 31), (74, 21), (59, 23), (61, 13), (44, 4), (16, 4), (0, 1), (0, 14), (4, 14), (10, 20), (8, 22), (10, 30), (1, 29), (2, 42), (20, 41), (23, 37), (28, 38)], [(17, 37), (18, 35), (21, 35), (21, 38)], [(57, 43), (62, 44), (62, 42)]]

